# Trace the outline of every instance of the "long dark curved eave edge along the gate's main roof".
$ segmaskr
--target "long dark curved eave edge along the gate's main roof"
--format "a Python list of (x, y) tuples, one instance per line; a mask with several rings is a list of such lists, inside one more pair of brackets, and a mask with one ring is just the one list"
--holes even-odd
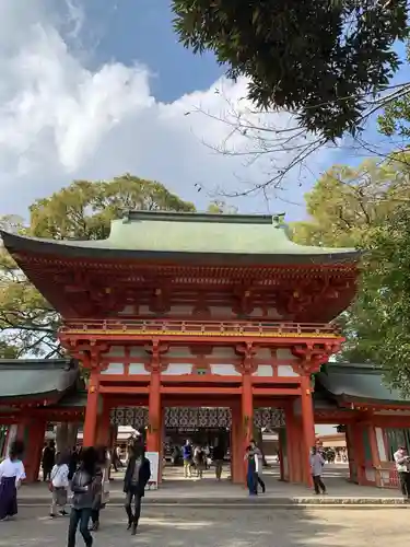
[[(320, 249), (315, 253), (197, 253), (197, 252), (162, 252), (132, 251), (99, 247), (93, 242), (58, 242), (25, 237), (0, 231), (4, 247), (19, 261), (19, 254), (32, 256), (49, 256), (60, 259), (85, 260), (130, 260), (145, 264), (167, 265), (207, 265), (207, 266), (349, 266), (360, 260), (362, 253), (354, 249)], [(164, 234), (166, 237), (166, 234)]]

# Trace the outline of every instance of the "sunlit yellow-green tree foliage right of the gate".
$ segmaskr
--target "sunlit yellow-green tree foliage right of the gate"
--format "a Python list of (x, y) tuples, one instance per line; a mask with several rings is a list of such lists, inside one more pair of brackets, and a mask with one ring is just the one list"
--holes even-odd
[(377, 165), (329, 170), (306, 196), (311, 220), (293, 224), (301, 243), (362, 248), (356, 301), (339, 318), (339, 360), (384, 366), (410, 393), (410, 186), (402, 154)]

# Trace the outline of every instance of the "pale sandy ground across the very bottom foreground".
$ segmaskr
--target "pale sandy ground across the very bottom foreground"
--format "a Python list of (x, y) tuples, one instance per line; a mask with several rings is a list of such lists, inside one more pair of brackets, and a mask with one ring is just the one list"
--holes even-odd
[[(39, 508), (23, 508), (0, 523), (0, 547), (66, 547), (68, 519), (50, 520)], [(410, 524), (403, 511), (293, 509), (270, 513), (143, 508), (137, 536), (126, 531), (120, 509), (102, 513), (95, 547), (386, 547), (407, 545)], [(83, 547), (79, 537), (79, 547)]]

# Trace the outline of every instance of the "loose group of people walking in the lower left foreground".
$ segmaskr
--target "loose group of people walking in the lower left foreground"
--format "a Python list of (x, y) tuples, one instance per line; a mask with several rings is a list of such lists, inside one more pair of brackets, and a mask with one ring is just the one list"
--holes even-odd
[[(11, 443), (9, 457), (0, 464), (0, 521), (17, 514), (17, 490), (25, 478), (22, 462), (24, 443)], [(130, 457), (124, 479), (126, 494), (125, 509), (128, 528), (134, 535), (141, 515), (141, 500), (151, 477), (150, 461), (145, 457), (142, 443), (129, 446)], [(99, 527), (101, 511), (109, 496), (108, 451), (103, 447), (83, 447), (62, 454), (56, 452), (51, 441), (44, 450), (43, 478), (48, 482), (51, 494), (50, 516), (70, 514), (67, 547), (75, 547), (77, 532), (83, 537), (86, 547), (93, 545), (92, 532)], [(66, 511), (71, 496), (70, 513)]]

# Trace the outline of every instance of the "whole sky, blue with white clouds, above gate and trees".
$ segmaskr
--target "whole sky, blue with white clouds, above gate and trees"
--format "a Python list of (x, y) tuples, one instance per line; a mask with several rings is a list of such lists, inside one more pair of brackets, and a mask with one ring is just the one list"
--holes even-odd
[[(246, 82), (219, 80), (223, 69), (211, 54), (195, 56), (178, 43), (169, 4), (0, 4), (0, 212), (26, 216), (34, 199), (73, 178), (110, 178), (124, 172), (157, 179), (200, 209), (212, 198), (269, 178), (267, 158), (249, 163), (215, 152), (230, 128), (213, 117), (225, 115), (225, 96), (241, 107)], [(395, 81), (409, 77), (403, 68)], [(276, 115), (277, 124), (286, 127), (289, 117)], [(364, 139), (380, 152), (391, 147), (377, 133), (374, 119)], [(239, 141), (234, 141), (236, 150), (243, 150)], [(305, 216), (304, 193), (320, 173), (332, 163), (356, 164), (370, 154), (345, 140), (320, 150), (305, 168), (295, 168), (284, 191), (229, 201), (243, 212), (285, 211), (288, 219), (300, 219)]]

